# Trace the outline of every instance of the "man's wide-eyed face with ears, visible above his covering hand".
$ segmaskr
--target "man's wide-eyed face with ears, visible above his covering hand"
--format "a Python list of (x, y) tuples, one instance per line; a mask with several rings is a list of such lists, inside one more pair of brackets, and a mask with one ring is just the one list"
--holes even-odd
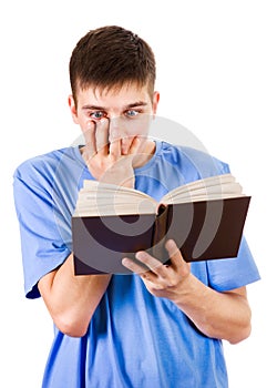
[(111, 142), (116, 137), (147, 135), (150, 122), (156, 113), (158, 93), (154, 92), (151, 99), (147, 85), (127, 84), (109, 91), (94, 88), (79, 90), (76, 99), (78, 106), (73, 98), (69, 98), (74, 122), (85, 132), (92, 121), (98, 127), (98, 123), (107, 120), (107, 141)]

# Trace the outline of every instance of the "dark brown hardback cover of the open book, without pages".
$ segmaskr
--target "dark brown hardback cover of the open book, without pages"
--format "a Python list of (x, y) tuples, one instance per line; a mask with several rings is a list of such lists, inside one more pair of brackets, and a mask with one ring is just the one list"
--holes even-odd
[(72, 217), (75, 275), (130, 274), (121, 261), (147, 251), (168, 263), (173, 238), (186, 262), (236, 257), (249, 196), (160, 205), (158, 214)]

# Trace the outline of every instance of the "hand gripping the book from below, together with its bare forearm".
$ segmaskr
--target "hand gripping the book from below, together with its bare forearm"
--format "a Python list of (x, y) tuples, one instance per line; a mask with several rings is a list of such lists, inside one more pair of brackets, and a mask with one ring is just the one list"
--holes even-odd
[(232, 344), (247, 338), (250, 333), (250, 308), (246, 288), (226, 292), (212, 289), (191, 273), (176, 244), (167, 241), (172, 264), (163, 265), (146, 252), (138, 252), (136, 258), (148, 270), (130, 258), (122, 263), (141, 276), (147, 290), (157, 297), (171, 299), (206, 336), (226, 339)]

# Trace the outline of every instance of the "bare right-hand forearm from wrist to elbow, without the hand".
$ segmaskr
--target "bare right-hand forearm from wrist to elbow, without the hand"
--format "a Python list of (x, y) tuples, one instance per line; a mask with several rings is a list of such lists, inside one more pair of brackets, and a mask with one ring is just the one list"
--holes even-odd
[(250, 334), (250, 308), (245, 287), (216, 292), (192, 274), (173, 300), (206, 336), (239, 343)]

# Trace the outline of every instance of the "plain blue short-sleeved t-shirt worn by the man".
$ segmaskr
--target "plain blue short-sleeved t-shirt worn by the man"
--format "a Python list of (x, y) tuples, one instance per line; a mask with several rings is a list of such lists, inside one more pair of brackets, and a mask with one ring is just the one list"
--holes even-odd
[[(156, 141), (135, 170), (135, 187), (160, 200), (181, 184), (228, 173), (228, 165), (189, 147)], [(14, 172), (25, 295), (72, 252), (71, 215), (84, 178), (78, 146), (31, 159)], [(236, 258), (192, 263), (205, 285), (226, 292), (259, 279), (243, 238)], [(54, 328), (43, 388), (225, 388), (222, 341), (203, 335), (174, 303), (151, 295), (136, 275), (113, 275), (82, 338)]]

